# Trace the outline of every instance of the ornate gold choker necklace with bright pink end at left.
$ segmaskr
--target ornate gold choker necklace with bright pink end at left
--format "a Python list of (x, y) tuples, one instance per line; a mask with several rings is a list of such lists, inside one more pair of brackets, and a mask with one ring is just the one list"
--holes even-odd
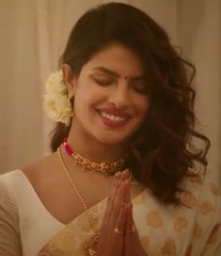
[(89, 170), (91, 173), (99, 172), (103, 173), (105, 176), (110, 176), (121, 171), (125, 167), (124, 158), (121, 158), (116, 162), (91, 162), (80, 154), (74, 154), (71, 145), (68, 145), (67, 143), (67, 138), (65, 138), (63, 145), (67, 154), (74, 159), (74, 165), (81, 165), (84, 171)]

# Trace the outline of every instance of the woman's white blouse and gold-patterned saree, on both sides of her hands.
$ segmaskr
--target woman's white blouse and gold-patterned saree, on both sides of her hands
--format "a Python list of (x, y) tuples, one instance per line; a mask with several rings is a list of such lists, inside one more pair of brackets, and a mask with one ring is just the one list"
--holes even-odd
[[(220, 256), (221, 190), (209, 176), (185, 179), (181, 207), (160, 204), (132, 182), (134, 224), (151, 256)], [(89, 209), (100, 228), (106, 198)], [(47, 211), (21, 170), (0, 176), (0, 251), (18, 256), (87, 256), (94, 237), (87, 213), (64, 225)], [(9, 253), (9, 254), (8, 254)]]

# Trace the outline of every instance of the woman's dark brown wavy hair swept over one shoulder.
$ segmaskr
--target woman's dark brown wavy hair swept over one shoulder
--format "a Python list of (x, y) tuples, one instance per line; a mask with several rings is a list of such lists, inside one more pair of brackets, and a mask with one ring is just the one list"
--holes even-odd
[[(89, 9), (73, 27), (60, 65), (69, 64), (77, 77), (94, 54), (112, 43), (132, 49), (143, 61), (150, 91), (150, 111), (132, 138), (128, 167), (160, 202), (179, 205), (182, 179), (193, 175), (196, 162), (207, 166), (210, 147), (209, 139), (195, 130), (195, 67), (182, 60), (150, 16), (122, 3)], [(53, 151), (69, 131), (56, 125)], [(195, 138), (204, 143), (201, 148), (194, 145)]]

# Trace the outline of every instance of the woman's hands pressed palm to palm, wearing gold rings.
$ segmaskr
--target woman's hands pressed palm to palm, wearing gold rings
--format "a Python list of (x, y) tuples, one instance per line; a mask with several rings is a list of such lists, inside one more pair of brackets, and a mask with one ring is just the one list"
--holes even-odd
[(115, 175), (96, 246), (97, 256), (147, 256), (134, 226), (128, 170)]

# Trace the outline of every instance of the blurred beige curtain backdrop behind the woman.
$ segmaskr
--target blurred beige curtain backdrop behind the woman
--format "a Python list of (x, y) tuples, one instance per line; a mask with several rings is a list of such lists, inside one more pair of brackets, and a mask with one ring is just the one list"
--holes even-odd
[[(50, 152), (54, 124), (42, 111), (46, 77), (75, 21), (110, 1), (0, 0), (0, 173)], [(209, 170), (221, 183), (221, 0), (128, 0), (163, 26), (197, 67), (197, 117), (212, 141)]]

